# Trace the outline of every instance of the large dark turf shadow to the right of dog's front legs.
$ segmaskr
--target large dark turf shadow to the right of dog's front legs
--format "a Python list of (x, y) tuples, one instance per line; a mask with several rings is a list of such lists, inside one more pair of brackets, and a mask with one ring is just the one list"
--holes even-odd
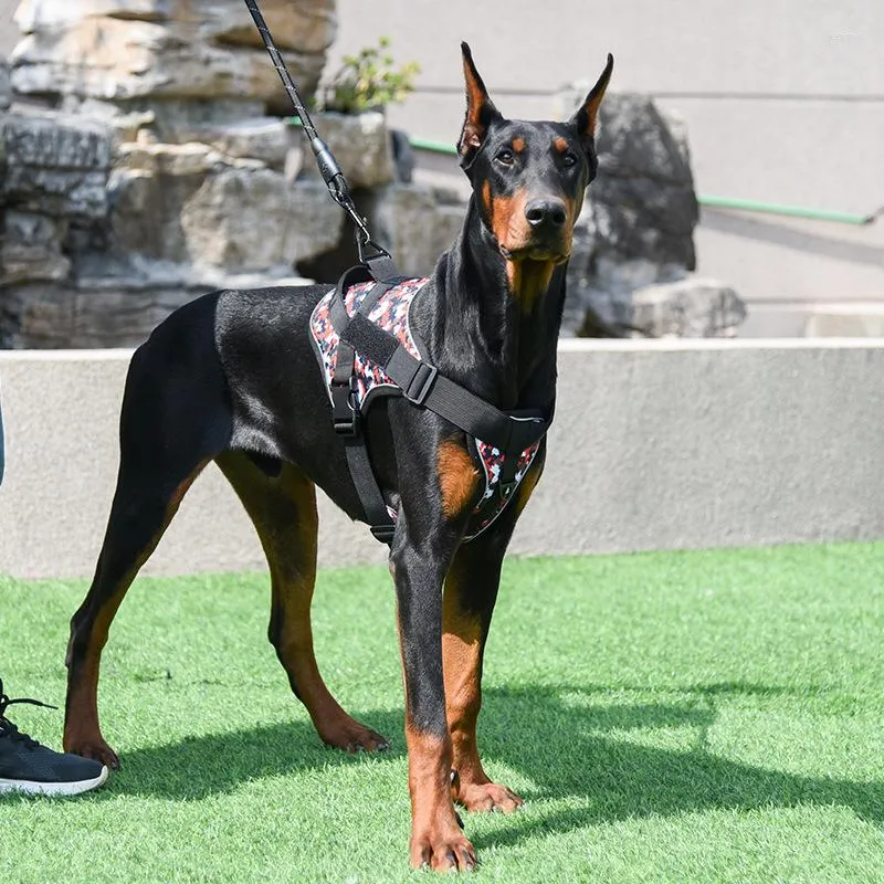
[[(524, 796), (528, 801), (577, 797), (587, 807), (552, 810), (530, 822), (519, 815), (498, 818), (494, 833), (476, 839), (477, 848), (515, 844), (537, 830), (561, 832), (632, 817), (714, 809), (838, 804), (864, 820), (884, 823), (884, 782), (794, 776), (720, 758), (707, 750), (706, 734), (720, 697), (822, 692), (723, 683), (686, 687), (684, 693), (693, 693), (695, 698), (675, 704), (581, 706), (562, 699), (569, 692), (606, 690), (573, 685), (485, 692), (481, 737), (491, 767), (502, 761), (537, 783), (536, 791)], [(646, 688), (643, 691), (646, 693)], [(694, 745), (684, 751), (604, 735), (608, 730), (683, 725), (696, 729)]]

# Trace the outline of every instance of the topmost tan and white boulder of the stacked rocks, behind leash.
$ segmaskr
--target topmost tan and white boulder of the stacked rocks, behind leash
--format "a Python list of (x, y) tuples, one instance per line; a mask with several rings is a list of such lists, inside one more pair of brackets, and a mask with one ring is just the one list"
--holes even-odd
[[(262, 11), (309, 94), (335, 36), (334, 0), (265, 0)], [(288, 109), (240, 0), (23, 0), (15, 21), (19, 95), (130, 109), (197, 101), (210, 115), (225, 105)]]

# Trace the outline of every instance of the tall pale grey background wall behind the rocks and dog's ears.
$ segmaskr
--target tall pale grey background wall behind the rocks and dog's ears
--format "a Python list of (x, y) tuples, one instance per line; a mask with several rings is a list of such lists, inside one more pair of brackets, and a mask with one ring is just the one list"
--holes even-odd
[[(456, 140), (461, 40), (501, 110), (528, 118), (552, 116), (551, 94), (594, 80), (610, 50), (612, 91), (649, 93), (685, 119), (699, 193), (861, 214), (884, 204), (880, 0), (337, 6), (329, 66), (379, 34), (391, 36), (399, 60), (421, 62), (418, 92), (390, 112), (412, 135)], [(462, 180), (452, 160), (431, 165)], [(800, 334), (809, 309), (884, 312), (884, 219), (855, 228), (705, 209), (696, 243), (699, 271), (749, 302), (744, 335)], [(870, 324), (839, 327), (863, 334)]]

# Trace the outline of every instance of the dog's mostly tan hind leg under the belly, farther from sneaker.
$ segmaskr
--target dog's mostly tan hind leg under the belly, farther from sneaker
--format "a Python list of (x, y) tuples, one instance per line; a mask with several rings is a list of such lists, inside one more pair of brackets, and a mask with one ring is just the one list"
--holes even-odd
[(218, 465), (254, 523), (267, 557), (273, 596), (267, 636), (319, 737), (347, 751), (386, 748), (383, 737), (344, 712), (316, 665), (311, 630), (318, 529), (313, 482), (291, 464), (269, 475), (241, 452), (222, 454)]

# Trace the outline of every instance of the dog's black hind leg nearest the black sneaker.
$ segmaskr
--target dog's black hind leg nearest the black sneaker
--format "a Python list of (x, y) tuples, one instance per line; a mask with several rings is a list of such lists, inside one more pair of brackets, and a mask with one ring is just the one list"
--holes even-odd
[[(160, 341), (161, 343), (161, 341)], [(120, 414), (120, 460), (95, 576), (71, 620), (64, 748), (110, 767), (119, 759), (98, 725), (98, 670), (110, 623), (129, 585), (202, 467), (230, 436), (223, 382), (193, 373), (164, 348), (136, 351)], [(220, 369), (219, 369), (220, 371)]]

